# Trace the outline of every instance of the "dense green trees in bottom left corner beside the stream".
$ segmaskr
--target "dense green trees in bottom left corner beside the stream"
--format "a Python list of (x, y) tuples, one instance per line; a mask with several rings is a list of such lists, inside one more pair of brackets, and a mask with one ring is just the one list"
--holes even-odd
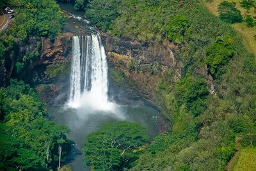
[(0, 89), (0, 96), (1, 169), (56, 169), (59, 155), (65, 161), (70, 149), (68, 128), (45, 118), (44, 104), (24, 82), (11, 80), (6, 89)]

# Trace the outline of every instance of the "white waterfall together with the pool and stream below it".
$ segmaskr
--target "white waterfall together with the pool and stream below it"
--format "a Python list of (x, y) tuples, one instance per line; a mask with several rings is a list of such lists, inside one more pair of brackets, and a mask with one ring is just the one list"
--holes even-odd
[(83, 142), (86, 135), (108, 122), (129, 121), (147, 127), (148, 136), (157, 135), (159, 111), (143, 100), (118, 105), (108, 98), (108, 63), (98, 34), (73, 36), (70, 94), (64, 106), (47, 108), (49, 117), (70, 129), (68, 138), (76, 145), (65, 162), (72, 170), (84, 168)]

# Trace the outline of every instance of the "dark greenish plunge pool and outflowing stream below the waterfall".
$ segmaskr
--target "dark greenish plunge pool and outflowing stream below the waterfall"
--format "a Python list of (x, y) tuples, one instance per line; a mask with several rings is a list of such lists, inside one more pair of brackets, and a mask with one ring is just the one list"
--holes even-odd
[(156, 128), (159, 111), (154, 107), (145, 105), (142, 101), (133, 101), (133, 103), (134, 105), (116, 105), (115, 113), (93, 112), (86, 108), (72, 109), (64, 106), (48, 107), (47, 112), (50, 119), (68, 126), (71, 132), (67, 136), (76, 143), (65, 164), (70, 165), (74, 171), (88, 170), (88, 168), (84, 168), (82, 144), (86, 135), (97, 130), (102, 123), (116, 121), (139, 123), (147, 127), (147, 133), (150, 138), (155, 137), (157, 135)]

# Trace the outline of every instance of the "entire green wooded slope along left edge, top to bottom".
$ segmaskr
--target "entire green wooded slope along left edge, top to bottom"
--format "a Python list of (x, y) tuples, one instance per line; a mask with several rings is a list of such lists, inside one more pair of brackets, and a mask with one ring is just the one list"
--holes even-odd
[(44, 103), (28, 84), (11, 78), (31, 74), (40, 61), (41, 40), (54, 40), (64, 17), (53, 0), (10, 0), (0, 5), (15, 10), (12, 25), (0, 33), (0, 168), (56, 170), (71, 148), (65, 135), (69, 130), (47, 119)]

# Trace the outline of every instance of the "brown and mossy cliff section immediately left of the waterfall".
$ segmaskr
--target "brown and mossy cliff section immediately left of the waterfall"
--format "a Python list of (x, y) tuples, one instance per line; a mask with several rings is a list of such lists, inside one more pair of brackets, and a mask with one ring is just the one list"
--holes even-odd
[(41, 42), (40, 59), (31, 70), (31, 84), (45, 103), (63, 104), (69, 90), (72, 34), (61, 34), (54, 41), (42, 38)]

